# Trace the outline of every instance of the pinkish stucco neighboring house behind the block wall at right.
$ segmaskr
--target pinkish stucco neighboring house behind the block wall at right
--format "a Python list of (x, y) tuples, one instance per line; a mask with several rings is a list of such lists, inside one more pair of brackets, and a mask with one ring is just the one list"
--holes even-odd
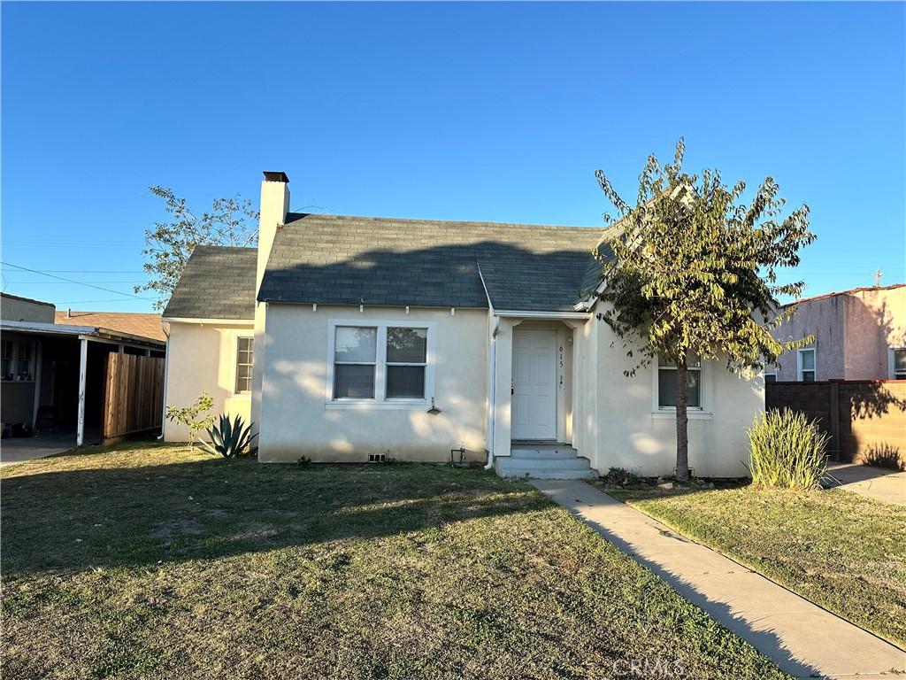
[(768, 382), (906, 380), (906, 284), (808, 297), (774, 335), (814, 342), (781, 357)]

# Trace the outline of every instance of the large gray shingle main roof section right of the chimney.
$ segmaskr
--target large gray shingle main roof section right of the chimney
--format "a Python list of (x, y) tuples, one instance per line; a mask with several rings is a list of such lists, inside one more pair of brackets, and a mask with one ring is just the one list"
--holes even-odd
[(601, 237), (585, 227), (290, 213), (258, 299), (487, 308), (490, 296), (496, 309), (571, 310), (593, 287)]

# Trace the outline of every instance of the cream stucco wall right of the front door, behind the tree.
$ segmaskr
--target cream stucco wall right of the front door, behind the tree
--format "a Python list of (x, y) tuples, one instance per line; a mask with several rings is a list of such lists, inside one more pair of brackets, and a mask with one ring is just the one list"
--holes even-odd
[[(603, 322), (588, 323), (582, 334), (583, 391), (586, 400), (588, 393), (593, 400), (585, 402), (578, 416), (584, 432), (580, 452), (601, 473), (622, 467), (643, 475), (670, 474), (676, 464), (676, 418), (674, 413), (655, 412), (656, 369), (650, 366), (626, 377), (623, 371), (631, 368), (632, 360), (622, 340)], [(595, 346), (598, 355), (588, 361)], [(721, 362), (706, 363), (703, 371), (704, 410), (689, 416), (689, 466), (699, 476), (745, 476), (745, 430), (764, 408), (764, 380), (730, 374)]]

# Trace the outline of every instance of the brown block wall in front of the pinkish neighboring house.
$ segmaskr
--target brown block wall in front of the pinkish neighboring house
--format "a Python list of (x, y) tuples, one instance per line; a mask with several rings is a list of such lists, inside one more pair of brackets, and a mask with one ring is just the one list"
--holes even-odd
[(818, 421), (835, 461), (906, 465), (906, 380), (765, 384), (766, 409), (785, 406)]

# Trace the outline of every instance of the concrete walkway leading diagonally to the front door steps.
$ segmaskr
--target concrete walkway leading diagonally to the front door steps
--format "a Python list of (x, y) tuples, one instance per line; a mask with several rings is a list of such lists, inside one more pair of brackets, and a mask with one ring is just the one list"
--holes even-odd
[(867, 680), (906, 672), (906, 652), (901, 649), (591, 485), (532, 483), (790, 675), (858, 674), (859, 680)]

